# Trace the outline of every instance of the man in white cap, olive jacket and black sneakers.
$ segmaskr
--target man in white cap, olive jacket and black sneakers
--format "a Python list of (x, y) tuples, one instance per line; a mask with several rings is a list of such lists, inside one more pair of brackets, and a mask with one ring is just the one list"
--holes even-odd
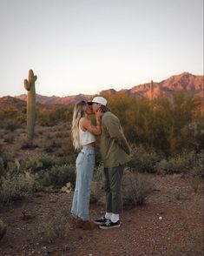
[(122, 212), (122, 175), (124, 165), (130, 160), (130, 149), (119, 119), (106, 107), (107, 100), (95, 97), (88, 104), (92, 104), (94, 112), (99, 109), (104, 111), (100, 151), (105, 175), (106, 213), (102, 219), (95, 219), (94, 222), (102, 229), (119, 227), (119, 214)]

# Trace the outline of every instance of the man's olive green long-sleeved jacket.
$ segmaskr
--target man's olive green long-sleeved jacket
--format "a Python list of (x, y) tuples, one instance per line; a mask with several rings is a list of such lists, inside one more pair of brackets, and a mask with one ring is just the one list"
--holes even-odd
[(100, 151), (104, 167), (123, 165), (130, 160), (129, 145), (122, 131), (119, 119), (111, 112), (102, 116)]

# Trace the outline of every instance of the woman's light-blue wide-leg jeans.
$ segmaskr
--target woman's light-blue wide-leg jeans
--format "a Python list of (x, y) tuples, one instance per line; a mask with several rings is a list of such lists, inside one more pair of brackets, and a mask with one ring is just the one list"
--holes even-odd
[(84, 145), (76, 158), (76, 188), (71, 213), (74, 218), (89, 219), (90, 185), (95, 167), (95, 148)]

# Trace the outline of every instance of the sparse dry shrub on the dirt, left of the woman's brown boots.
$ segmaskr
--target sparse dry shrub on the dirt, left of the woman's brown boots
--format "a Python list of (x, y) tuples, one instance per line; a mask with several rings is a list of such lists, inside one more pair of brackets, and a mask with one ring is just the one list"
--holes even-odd
[(69, 209), (63, 207), (55, 209), (55, 214), (50, 217), (46, 215), (38, 226), (38, 232), (43, 236), (45, 242), (52, 242), (55, 239), (61, 239), (69, 232)]

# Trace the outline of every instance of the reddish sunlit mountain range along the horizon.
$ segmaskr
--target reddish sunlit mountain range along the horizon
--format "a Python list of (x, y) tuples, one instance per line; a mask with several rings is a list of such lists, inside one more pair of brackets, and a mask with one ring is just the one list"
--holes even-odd
[[(161, 82), (154, 82), (154, 92), (153, 97), (157, 98), (160, 95), (165, 95), (168, 98), (171, 98), (174, 91), (184, 91), (187, 95), (196, 95), (203, 97), (203, 81), (204, 76), (195, 76), (188, 72), (183, 72), (180, 75), (169, 77), (166, 80)], [(138, 84), (132, 87), (131, 89), (125, 89), (121, 91), (115, 91), (115, 89), (109, 89), (105, 92), (109, 95), (115, 95), (118, 92), (125, 92), (128, 95), (138, 95), (139, 97), (150, 98), (150, 83), (147, 84)], [(22, 94), (15, 97), (16, 99), (26, 100), (27, 95)], [(57, 97), (57, 96), (42, 96), (36, 94), (36, 102), (40, 104), (75, 104), (76, 101), (81, 99), (90, 99), (93, 98), (93, 95), (78, 94), (73, 96), (66, 97)], [(0, 98), (1, 99), (1, 98)], [(0, 100), (0, 104), (3, 100)]]

